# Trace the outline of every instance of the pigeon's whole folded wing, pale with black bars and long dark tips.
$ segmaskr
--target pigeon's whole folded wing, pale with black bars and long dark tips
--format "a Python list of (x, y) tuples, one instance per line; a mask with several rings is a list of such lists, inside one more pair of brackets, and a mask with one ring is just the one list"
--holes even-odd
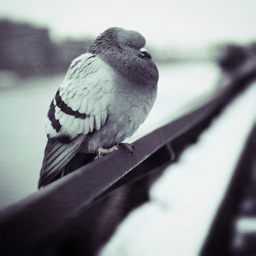
[(39, 187), (53, 181), (90, 132), (105, 124), (113, 83), (113, 70), (97, 56), (86, 53), (72, 62), (49, 107)]

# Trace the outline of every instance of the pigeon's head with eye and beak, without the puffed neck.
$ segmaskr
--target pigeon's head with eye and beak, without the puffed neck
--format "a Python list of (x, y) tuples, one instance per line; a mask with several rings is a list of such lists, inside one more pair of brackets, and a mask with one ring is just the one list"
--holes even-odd
[[(89, 53), (105, 53), (109, 50), (122, 50), (122, 53), (135, 54), (140, 58), (151, 59), (149, 53), (144, 48), (146, 40), (139, 32), (125, 30), (124, 28), (108, 28), (101, 33), (88, 49)], [(110, 52), (109, 52), (110, 53)]]

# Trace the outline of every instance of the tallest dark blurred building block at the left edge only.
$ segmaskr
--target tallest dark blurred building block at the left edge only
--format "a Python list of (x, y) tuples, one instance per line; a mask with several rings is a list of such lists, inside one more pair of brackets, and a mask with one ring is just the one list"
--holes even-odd
[(3, 20), (0, 33), (0, 69), (41, 74), (54, 66), (56, 47), (46, 28)]

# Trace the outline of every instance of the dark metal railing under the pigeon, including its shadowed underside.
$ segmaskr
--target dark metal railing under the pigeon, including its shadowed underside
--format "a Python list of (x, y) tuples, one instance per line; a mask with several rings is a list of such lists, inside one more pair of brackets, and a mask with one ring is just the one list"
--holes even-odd
[[(254, 60), (252, 60), (254, 61)], [(255, 79), (247, 61), (205, 105), (62, 177), (0, 213), (0, 255), (94, 255), (117, 224), (148, 200), (163, 169)]]

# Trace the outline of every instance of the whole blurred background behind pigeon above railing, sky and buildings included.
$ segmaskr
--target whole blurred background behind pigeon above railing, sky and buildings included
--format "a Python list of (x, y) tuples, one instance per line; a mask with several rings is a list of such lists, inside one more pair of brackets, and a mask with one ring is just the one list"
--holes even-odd
[(70, 62), (106, 28), (142, 33), (160, 70), (158, 99), (143, 133), (216, 88), (223, 51), (238, 53), (232, 63), (255, 53), (255, 10), (254, 0), (2, 0), (1, 208), (37, 190), (49, 103)]

